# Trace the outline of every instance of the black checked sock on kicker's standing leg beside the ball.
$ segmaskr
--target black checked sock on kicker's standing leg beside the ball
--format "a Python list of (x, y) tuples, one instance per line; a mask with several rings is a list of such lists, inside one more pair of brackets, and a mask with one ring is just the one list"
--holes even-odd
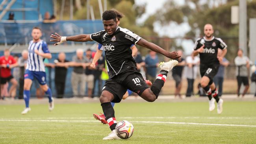
[(115, 120), (115, 111), (110, 102), (102, 103), (102, 110), (108, 122), (108, 126), (113, 131), (115, 126), (117, 126), (117, 121)]

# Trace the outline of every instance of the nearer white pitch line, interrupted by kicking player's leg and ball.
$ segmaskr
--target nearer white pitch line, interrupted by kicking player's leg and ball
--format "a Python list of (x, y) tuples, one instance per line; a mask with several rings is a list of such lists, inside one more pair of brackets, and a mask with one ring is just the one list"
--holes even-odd
[[(98, 120), (24, 120), (24, 119), (0, 119), (2, 122), (99, 122)], [(131, 121), (134, 123), (155, 123), (155, 124), (185, 124), (185, 125), (205, 125), (205, 126), (236, 126), (236, 127), (256, 127), (254, 125), (238, 125), (238, 124), (207, 124), (193, 122), (154, 122), (154, 121)]]

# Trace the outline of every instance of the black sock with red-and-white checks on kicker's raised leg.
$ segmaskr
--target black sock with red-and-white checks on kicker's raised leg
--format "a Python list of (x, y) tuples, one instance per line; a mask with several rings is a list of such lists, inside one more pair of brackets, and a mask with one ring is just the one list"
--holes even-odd
[(153, 85), (150, 88), (152, 92), (156, 95), (156, 98), (158, 98), (158, 95), (165, 83), (167, 74), (168, 72), (166, 70), (161, 70), (158, 76), (156, 77), (156, 80), (154, 81)]

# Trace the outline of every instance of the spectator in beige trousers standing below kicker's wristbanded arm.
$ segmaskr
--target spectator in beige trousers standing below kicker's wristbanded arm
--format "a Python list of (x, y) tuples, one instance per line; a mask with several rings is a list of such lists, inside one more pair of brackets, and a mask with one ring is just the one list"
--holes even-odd
[[(84, 96), (85, 94), (85, 68), (87, 59), (83, 56), (83, 49), (77, 49), (76, 55), (72, 57), (70, 66), (74, 66), (71, 74), (71, 84), (74, 96)], [(78, 85), (80, 90), (78, 91)]]

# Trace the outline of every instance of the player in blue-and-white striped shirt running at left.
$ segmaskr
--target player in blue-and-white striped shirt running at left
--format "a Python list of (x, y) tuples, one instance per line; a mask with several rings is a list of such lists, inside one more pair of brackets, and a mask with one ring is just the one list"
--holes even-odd
[(52, 55), (48, 49), (45, 41), (41, 40), (42, 31), (40, 28), (34, 27), (32, 29), (33, 41), (29, 42), (28, 46), (28, 63), (26, 66), (26, 72), (24, 74), (24, 100), (26, 108), (21, 114), (28, 113), (31, 109), (29, 107), (30, 100), (30, 87), (32, 85), (33, 79), (37, 79), (40, 84), (41, 89), (45, 91), (45, 94), (49, 98), (49, 110), (54, 109), (54, 102), (52, 98), (52, 91), (46, 84), (46, 74), (45, 65), (43, 60), (45, 58), (51, 59)]

